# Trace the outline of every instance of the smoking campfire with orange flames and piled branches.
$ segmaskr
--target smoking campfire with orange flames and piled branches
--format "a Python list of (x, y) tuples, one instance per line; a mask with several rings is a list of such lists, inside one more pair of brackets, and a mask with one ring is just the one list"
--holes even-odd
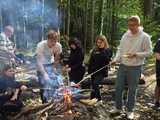
[[(31, 106), (27, 106), (14, 117), (14, 120), (23, 120), (23, 117), (27, 120), (42, 120), (42, 118), (56, 119), (56, 117), (57, 119), (63, 119), (66, 116), (75, 118), (81, 117), (82, 114), (85, 115), (87, 113), (85, 112), (87, 111), (85, 107), (87, 105), (81, 102), (81, 100), (87, 100), (87, 102), (90, 103), (90, 94), (85, 94), (86, 92), (90, 93), (90, 89), (81, 89), (68, 84), (64, 85), (61, 83), (63, 81), (61, 74), (56, 73), (56, 75), (57, 76), (54, 77), (56, 80), (53, 80), (53, 82), (50, 81), (46, 84), (45, 88), (43, 88), (48, 98), (48, 103), (39, 105), (35, 103)], [(55, 82), (59, 84), (59, 87), (54, 86)]]

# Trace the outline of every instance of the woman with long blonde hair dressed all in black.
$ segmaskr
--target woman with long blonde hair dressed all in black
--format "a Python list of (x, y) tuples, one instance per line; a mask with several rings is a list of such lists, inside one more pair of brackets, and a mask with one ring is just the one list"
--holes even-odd
[[(95, 44), (95, 48), (92, 50), (89, 59), (89, 74), (108, 65), (112, 57), (111, 49), (109, 48), (107, 39), (104, 35), (97, 36)], [(99, 84), (105, 76), (108, 76), (108, 66), (91, 76), (91, 85), (93, 89), (91, 92), (91, 99), (97, 98), (98, 101), (101, 101)]]

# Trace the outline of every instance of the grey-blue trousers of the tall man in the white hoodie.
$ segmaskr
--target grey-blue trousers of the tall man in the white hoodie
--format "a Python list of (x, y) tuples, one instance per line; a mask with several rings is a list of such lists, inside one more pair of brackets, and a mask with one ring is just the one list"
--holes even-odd
[(120, 65), (117, 73), (116, 92), (115, 92), (115, 102), (117, 109), (122, 109), (123, 91), (127, 83), (128, 92), (127, 92), (126, 108), (127, 111), (129, 112), (133, 111), (136, 100), (137, 85), (142, 70), (141, 67), (142, 66), (126, 66), (122, 64)]

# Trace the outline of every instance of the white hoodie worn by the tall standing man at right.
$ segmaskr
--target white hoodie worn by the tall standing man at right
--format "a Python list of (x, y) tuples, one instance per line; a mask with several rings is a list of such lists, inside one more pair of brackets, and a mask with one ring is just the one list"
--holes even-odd
[[(134, 58), (127, 58), (125, 55), (128, 53), (136, 53)], [(137, 34), (132, 34), (128, 30), (122, 36), (117, 54), (114, 58), (115, 61), (127, 66), (139, 66), (144, 64), (145, 57), (152, 53), (151, 37), (143, 32), (143, 28), (139, 27)]]

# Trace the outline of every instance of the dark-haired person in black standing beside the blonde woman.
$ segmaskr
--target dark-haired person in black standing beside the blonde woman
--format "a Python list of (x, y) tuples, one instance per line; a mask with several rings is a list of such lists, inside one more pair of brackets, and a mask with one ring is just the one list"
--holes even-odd
[(69, 70), (69, 80), (78, 83), (85, 73), (85, 67), (83, 66), (84, 52), (81, 42), (77, 38), (70, 39), (68, 44), (71, 50), (69, 61), (66, 65)]

